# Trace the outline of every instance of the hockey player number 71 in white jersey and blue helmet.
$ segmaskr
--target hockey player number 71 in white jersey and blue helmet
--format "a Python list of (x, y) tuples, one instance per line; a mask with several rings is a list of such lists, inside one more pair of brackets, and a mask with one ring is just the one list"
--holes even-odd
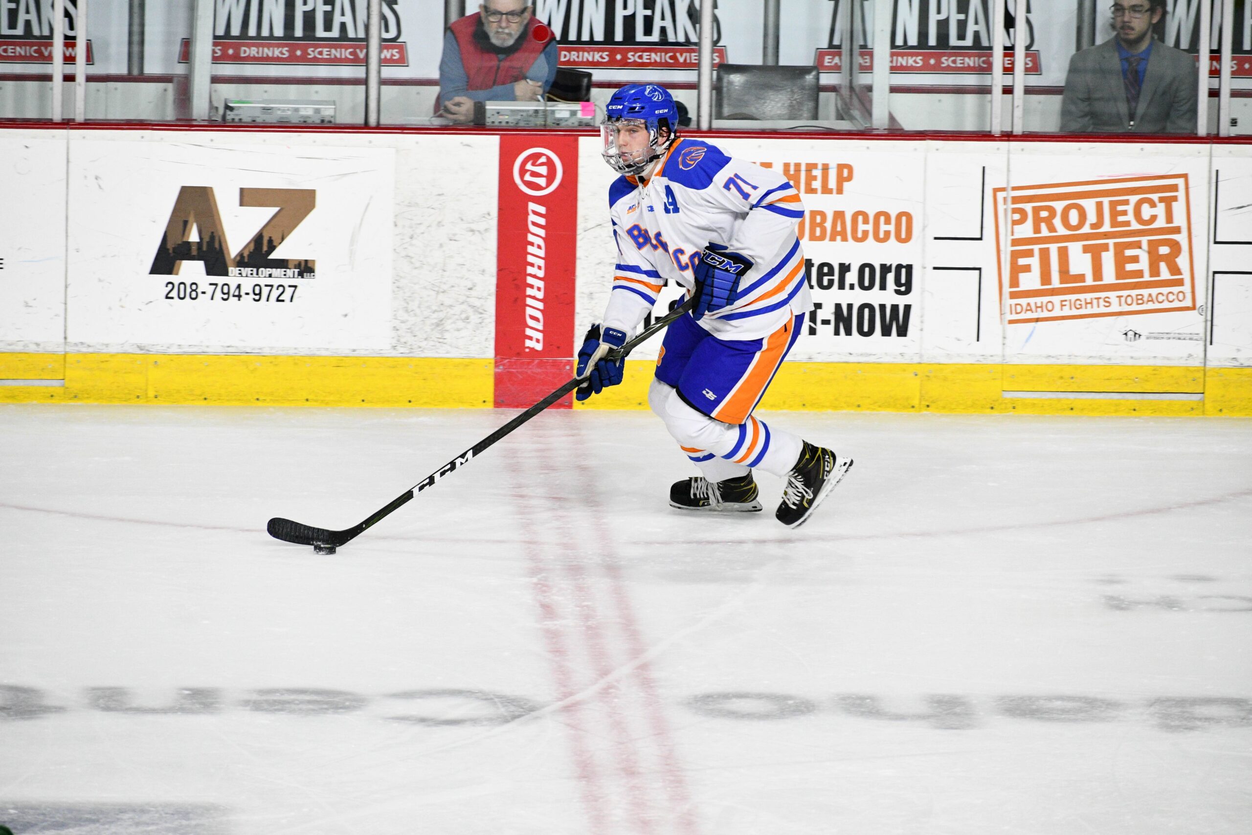
[(752, 468), (786, 478), (775, 516), (804, 523), (851, 459), (752, 416), (813, 307), (796, 224), (804, 205), (780, 174), (677, 135), (661, 86), (631, 84), (605, 108), (603, 158), (617, 264), (603, 320), (578, 351), (575, 397), (622, 381), (605, 359), (667, 282), (695, 294), (665, 333), (649, 404), (702, 473), (675, 483), (681, 510), (760, 511)]

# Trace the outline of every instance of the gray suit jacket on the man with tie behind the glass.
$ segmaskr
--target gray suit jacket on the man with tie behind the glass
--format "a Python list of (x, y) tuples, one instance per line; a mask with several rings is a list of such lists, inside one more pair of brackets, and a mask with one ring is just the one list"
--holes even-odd
[(1064, 133), (1194, 134), (1196, 60), (1182, 50), (1152, 41), (1152, 55), (1131, 126), (1122, 84), (1117, 36), (1069, 59), (1065, 98), (1060, 105)]

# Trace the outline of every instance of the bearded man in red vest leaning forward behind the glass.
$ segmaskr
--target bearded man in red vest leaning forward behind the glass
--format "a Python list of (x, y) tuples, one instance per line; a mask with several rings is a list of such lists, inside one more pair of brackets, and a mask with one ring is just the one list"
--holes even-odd
[(473, 120), (475, 101), (540, 101), (556, 76), (551, 30), (526, 0), (486, 0), (452, 23), (439, 60), (438, 114)]

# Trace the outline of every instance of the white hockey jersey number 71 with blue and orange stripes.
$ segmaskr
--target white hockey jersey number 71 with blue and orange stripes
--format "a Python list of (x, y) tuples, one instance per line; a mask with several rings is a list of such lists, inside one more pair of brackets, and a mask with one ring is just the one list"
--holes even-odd
[(796, 225), (804, 204), (781, 174), (732, 159), (706, 141), (679, 139), (645, 183), (620, 177), (608, 188), (617, 240), (605, 327), (632, 333), (667, 282), (695, 287), (691, 267), (709, 243), (754, 267), (732, 305), (700, 325), (722, 339), (757, 339), (813, 307)]

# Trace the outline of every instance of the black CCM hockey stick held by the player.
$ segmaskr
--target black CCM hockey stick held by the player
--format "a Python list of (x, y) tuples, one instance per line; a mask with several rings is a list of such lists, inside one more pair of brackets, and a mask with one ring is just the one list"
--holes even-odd
[[(686, 299), (682, 304), (674, 308), (674, 310), (671, 310), (666, 315), (654, 322), (650, 327), (641, 330), (637, 337), (627, 341), (621, 348), (613, 348), (612, 351), (610, 351), (608, 359), (625, 359), (626, 356), (631, 351), (634, 351), (640, 343), (642, 343), (645, 339), (655, 334), (657, 330), (664, 329), (667, 324), (670, 324), (680, 315), (690, 310), (694, 304), (695, 304), (695, 297), (692, 295), (691, 298)], [(562, 383), (558, 389), (545, 397), (542, 401), (540, 401), (531, 408), (526, 409), (525, 412), (515, 417), (512, 421), (510, 421), (505, 426), (500, 427), (498, 429), (488, 434), (478, 443), (466, 449), (459, 456), (457, 456), (448, 463), (443, 464), (442, 467), (436, 469), (433, 473), (431, 473), (418, 483), (413, 484), (413, 487), (411, 487), (409, 489), (404, 491), (403, 493), (393, 498), (386, 507), (374, 511), (369, 516), (369, 518), (364, 520), (358, 525), (352, 526), (351, 528), (346, 528), (343, 531), (328, 531), (327, 528), (316, 528), (310, 525), (300, 525), (299, 522), (293, 522), (290, 520), (284, 520), (282, 517), (275, 516), (274, 518), (269, 520), (269, 525), (265, 526), (265, 530), (269, 531), (269, 536), (277, 540), (282, 540), (284, 542), (294, 542), (295, 545), (312, 545), (313, 550), (317, 551), (318, 553), (334, 553), (336, 548), (338, 548), (341, 545), (351, 542), (362, 532), (364, 532), (366, 528), (372, 527), (374, 523), (389, 516), (392, 511), (399, 508), (411, 498), (421, 493), (423, 489), (434, 484), (434, 482), (439, 481), (441, 478), (453, 472), (454, 469), (458, 469), (470, 463), (476, 456), (482, 454), (482, 452), (487, 447), (496, 443), (497, 441), (507, 436), (510, 432), (522, 426), (532, 417), (535, 417), (547, 407), (552, 406), (553, 403), (556, 403), (558, 399), (561, 399), (573, 389), (578, 388), (578, 386), (581, 386), (585, 382), (585, 379), (586, 379), (585, 377), (575, 377), (568, 382)]]

